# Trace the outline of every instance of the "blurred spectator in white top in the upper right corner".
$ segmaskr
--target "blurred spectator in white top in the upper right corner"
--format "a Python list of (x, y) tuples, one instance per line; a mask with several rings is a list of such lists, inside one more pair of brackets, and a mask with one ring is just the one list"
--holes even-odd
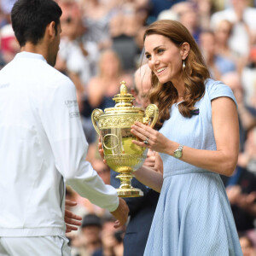
[(247, 0), (231, 0), (230, 8), (218, 11), (212, 15), (212, 29), (221, 20), (230, 20), (233, 31), (230, 36), (230, 48), (241, 55), (248, 55), (250, 44), (255, 38), (256, 9), (247, 6)]

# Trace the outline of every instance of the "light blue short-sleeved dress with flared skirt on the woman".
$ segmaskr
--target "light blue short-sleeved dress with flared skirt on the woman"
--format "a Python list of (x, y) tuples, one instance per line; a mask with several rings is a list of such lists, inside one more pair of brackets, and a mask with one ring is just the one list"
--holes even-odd
[[(205, 95), (195, 104), (199, 114), (184, 118), (174, 104), (171, 118), (160, 132), (191, 148), (216, 150), (211, 101), (219, 96), (228, 96), (236, 102), (228, 86), (207, 79)], [(168, 154), (161, 157), (164, 183), (144, 256), (242, 256), (236, 224), (219, 175)]]

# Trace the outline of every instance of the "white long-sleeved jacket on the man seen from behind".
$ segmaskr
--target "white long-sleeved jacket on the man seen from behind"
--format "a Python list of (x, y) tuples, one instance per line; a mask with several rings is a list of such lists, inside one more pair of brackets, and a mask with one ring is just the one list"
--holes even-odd
[(65, 235), (65, 181), (115, 210), (87, 149), (72, 81), (42, 55), (17, 54), (0, 71), (0, 236)]

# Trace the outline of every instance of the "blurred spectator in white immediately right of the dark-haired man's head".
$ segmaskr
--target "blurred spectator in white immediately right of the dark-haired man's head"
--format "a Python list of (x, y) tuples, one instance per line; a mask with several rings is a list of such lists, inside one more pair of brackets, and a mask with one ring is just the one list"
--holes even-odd
[[(62, 0), (63, 1), (63, 0)], [(97, 44), (84, 39), (86, 27), (76, 2), (60, 2), (61, 44), (56, 68), (73, 80), (79, 94), (86, 94), (87, 84), (96, 74), (96, 62), (99, 57)]]

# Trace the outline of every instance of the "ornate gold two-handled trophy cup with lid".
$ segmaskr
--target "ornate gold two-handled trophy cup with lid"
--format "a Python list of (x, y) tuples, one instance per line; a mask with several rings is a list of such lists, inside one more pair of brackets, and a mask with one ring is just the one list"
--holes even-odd
[(135, 99), (127, 93), (125, 82), (120, 83), (120, 94), (113, 97), (114, 108), (94, 109), (91, 113), (92, 124), (102, 137), (102, 148), (104, 158), (108, 166), (120, 179), (120, 186), (117, 193), (120, 197), (143, 196), (141, 189), (131, 186), (132, 172), (137, 171), (146, 159), (148, 148), (143, 148), (132, 143), (138, 140), (131, 133), (131, 125), (136, 121), (150, 127), (154, 127), (158, 119), (158, 108), (154, 104), (148, 105), (146, 110), (133, 106)]

